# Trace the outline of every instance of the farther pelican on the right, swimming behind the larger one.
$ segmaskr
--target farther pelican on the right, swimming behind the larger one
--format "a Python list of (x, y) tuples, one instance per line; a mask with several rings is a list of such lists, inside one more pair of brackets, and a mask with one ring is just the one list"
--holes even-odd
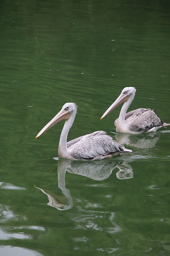
[(153, 110), (150, 108), (138, 108), (127, 112), (133, 98), (135, 96), (136, 89), (134, 87), (125, 87), (117, 100), (106, 110), (103, 116), (107, 116), (113, 109), (115, 109), (119, 104), (125, 102), (121, 108), (119, 118), (114, 122), (116, 127), (116, 132), (130, 133), (130, 134), (140, 134), (143, 132), (156, 132), (161, 127), (170, 125), (164, 123)]

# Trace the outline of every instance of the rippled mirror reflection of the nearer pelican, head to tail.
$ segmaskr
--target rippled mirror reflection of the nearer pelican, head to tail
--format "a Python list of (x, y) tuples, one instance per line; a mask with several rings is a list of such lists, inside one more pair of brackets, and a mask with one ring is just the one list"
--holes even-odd
[(59, 159), (58, 160), (58, 187), (62, 191), (62, 195), (54, 194), (50, 190), (38, 188), (47, 195), (49, 202), (47, 205), (57, 208), (58, 210), (68, 210), (72, 208), (72, 197), (70, 191), (66, 188), (65, 174), (66, 171), (72, 174), (86, 176), (93, 180), (107, 179), (115, 168), (119, 168), (116, 173), (118, 179), (133, 178), (133, 170), (128, 162), (123, 161), (120, 164), (115, 161), (96, 161), (96, 162), (79, 162), (75, 160)]

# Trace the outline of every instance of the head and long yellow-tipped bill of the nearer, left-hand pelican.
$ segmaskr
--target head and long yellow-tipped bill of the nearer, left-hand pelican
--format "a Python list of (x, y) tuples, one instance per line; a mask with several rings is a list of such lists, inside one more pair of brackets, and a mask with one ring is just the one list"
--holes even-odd
[(44, 126), (44, 128), (37, 134), (35, 138), (37, 139), (41, 134), (49, 130), (49, 128), (51, 128), (53, 125), (57, 124), (61, 120), (69, 120), (70, 116), (75, 117), (76, 112), (77, 106), (75, 103), (69, 102), (64, 104), (60, 112), (48, 124)]

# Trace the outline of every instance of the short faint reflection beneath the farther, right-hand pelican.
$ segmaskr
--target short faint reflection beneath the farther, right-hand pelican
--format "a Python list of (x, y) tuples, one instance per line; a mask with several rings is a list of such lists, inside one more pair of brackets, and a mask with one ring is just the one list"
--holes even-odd
[(117, 143), (130, 145), (135, 148), (153, 148), (160, 137), (161, 134), (115, 134)]

